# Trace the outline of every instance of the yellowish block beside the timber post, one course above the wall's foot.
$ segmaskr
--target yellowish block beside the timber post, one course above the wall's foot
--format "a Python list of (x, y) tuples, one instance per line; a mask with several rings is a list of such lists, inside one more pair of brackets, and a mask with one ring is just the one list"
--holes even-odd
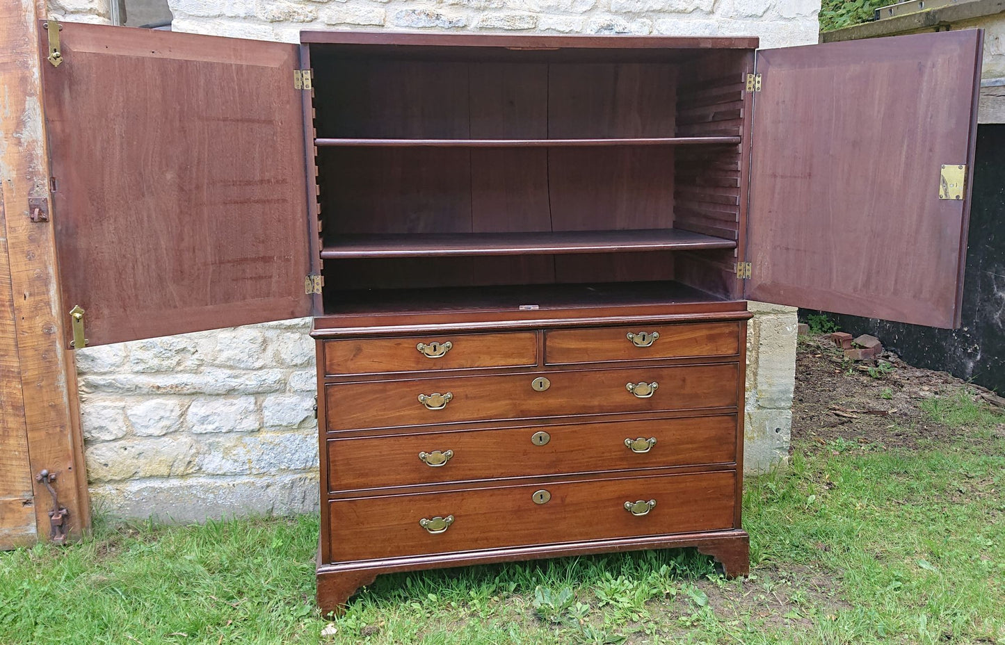
[(84, 455), (90, 481), (118, 481), (192, 473), (198, 448), (191, 437), (157, 437), (98, 443)]

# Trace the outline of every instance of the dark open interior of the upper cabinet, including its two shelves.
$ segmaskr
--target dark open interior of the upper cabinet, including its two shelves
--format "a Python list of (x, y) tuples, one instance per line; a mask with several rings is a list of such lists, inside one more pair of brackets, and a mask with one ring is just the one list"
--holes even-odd
[(311, 44), (326, 312), (740, 297), (752, 55)]

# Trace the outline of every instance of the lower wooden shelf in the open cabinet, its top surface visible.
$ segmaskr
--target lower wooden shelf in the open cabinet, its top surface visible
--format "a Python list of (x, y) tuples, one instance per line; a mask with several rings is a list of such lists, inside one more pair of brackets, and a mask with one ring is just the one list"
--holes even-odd
[(736, 248), (735, 240), (666, 229), (539, 233), (340, 235), (322, 259), (544, 255)]

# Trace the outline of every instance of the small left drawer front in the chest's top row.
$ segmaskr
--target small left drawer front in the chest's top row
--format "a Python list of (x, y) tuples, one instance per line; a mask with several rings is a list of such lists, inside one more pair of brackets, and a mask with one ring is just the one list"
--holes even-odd
[[(535, 332), (325, 341), (325, 373), (380, 374), (538, 364)], [(421, 347), (420, 347), (421, 346)]]

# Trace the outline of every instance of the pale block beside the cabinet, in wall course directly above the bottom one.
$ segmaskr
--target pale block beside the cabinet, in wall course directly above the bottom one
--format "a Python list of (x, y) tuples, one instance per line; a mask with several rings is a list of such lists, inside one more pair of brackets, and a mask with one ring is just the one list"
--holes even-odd
[(268, 474), (318, 468), (318, 436), (312, 432), (240, 435), (209, 440), (199, 459), (205, 474)]

